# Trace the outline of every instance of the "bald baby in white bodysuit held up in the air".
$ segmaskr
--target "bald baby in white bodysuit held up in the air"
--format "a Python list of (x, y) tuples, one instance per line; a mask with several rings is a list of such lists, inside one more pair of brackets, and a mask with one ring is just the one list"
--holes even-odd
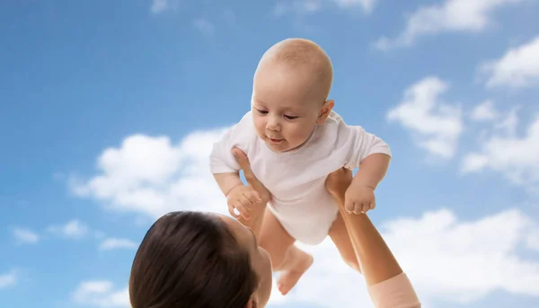
[(232, 216), (249, 219), (250, 207), (260, 200), (240, 180), (234, 146), (247, 154), (252, 172), (270, 190), (259, 241), (273, 269), (283, 271), (278, 278), (283, 295), (313, 263), (296, 241), (316, 245), (330, 235), (342, 258), (360, 270), (324, 182), (342, 167), (359, 167), (345, 206), (349, 212), (365, 213), (376, 205), (374, 190), (391, 159), (384, 141), (345, 124), (332, 111), (331, 82), (330, 58), (314, 42), (288, 39), (273, 45), (254, 74), (251, 110), (216, 142), (210, 156), (210, 170)]

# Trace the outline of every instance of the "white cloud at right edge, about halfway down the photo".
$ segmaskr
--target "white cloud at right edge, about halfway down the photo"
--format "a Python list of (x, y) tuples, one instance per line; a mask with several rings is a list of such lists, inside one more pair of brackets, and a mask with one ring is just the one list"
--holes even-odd
[(489, 169), (501, 172), (515, 184), (534, 189), (539, 185), (539, 116), (526, 129), (525, 136), (516, 136), (517, 117), (509, 114), (501, 123), (507, 134), (491, 136), (482, 142), (481, 150), (464, 156), (461, 171), (480, 172)]

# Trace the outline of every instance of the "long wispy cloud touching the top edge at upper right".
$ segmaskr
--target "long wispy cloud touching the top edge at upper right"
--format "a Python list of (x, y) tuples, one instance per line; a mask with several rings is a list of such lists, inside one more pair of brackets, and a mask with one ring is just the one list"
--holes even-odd
[(411, 46), (422, 36), (442, 32), (485, 31), (492, 24), (494, 11), (517, 4), (523, 0), (446, 0), (441, 4), (420, 6), (406, 18), (406, 26), (395, 39), (381, 38), (376, 41), (376, 48)]

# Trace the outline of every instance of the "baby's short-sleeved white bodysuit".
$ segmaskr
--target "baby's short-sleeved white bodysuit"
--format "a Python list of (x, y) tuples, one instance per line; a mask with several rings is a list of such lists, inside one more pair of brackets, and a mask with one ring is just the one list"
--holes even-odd
[(327, 176), (341, 167), (355, 169), (368, 155), (391, 156), (389, 146), (359, 126), (348, 126), (331, 112), (305, 145), (277, 153), (257, 136), (252, 112), (225, 132), (210, 155), (210, 171), (238, 172), (239, 164), (231, 150), (242, 149), (251, 163), (252, 172), (270, 189), (271, 212), (299, 242), (315, 245), (323, 242), (337, 217), (338, 208), (324, 188)]

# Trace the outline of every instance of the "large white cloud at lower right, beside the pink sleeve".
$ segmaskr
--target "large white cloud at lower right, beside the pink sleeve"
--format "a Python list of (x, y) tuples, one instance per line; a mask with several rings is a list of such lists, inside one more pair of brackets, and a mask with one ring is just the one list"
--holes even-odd
[(384, 238), (429, 296), (463, 304), (497, 289), (539, 296), (539, 285), (530, 284), (539, 279), (539, 262), (517, 256), (517, 245), (537, 225), (517, 209), (460, 222), (438, 210), (384, 225)]

